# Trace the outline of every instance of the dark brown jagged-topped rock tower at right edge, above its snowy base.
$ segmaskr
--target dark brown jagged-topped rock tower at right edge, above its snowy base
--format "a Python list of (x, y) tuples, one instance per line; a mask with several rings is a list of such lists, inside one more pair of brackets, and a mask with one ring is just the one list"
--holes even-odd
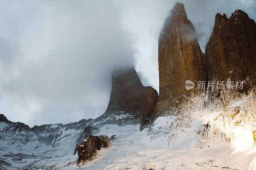
[(205, 49), (210, 79), (255, 80), (256, 24), (242, 10), (217, 14)]

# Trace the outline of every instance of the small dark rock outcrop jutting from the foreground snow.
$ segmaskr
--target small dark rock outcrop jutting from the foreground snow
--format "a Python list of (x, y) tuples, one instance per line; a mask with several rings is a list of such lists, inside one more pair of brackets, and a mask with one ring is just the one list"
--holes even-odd
[(103, 148), (107, 149), (111, 147), (112, 143), (108, 139), (108, 136), (92, 136), (90, 135), (86, 142), (83, 142), (78, 147), (78, 160), (77, 164), (81, 165), (88, 161), (92, 161), (97, 158), (98, 151)]

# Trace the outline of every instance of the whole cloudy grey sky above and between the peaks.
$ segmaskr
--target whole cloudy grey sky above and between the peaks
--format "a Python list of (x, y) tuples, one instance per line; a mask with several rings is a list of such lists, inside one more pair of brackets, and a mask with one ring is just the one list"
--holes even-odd
[[(176, 1), (0, 1), (0, 113), (30, 127), (105, 112), (111, 72), (159, 91), (158, 36)], [(256, 20), (255, 0), (180, 1), (202, 51), (216, 13)]]

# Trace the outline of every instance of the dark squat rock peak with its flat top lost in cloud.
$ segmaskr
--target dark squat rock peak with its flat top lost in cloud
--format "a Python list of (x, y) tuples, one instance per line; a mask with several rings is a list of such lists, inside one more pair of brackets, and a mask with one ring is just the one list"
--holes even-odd
[(158, 98), (157, 91), (143, 86), (134, 68), (116, 70), (112, 75), (112, 90), (106, 112), (95, 121), (103, 124), (145, 124)]

